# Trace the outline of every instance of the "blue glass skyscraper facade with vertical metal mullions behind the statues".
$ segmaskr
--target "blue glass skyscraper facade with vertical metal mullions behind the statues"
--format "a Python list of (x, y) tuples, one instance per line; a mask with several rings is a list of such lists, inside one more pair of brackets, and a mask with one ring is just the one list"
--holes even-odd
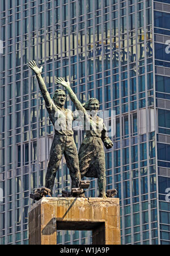
[[(121, 205), (122, 244), (170, 244), (170, 0), (0, 0), (0, 243), (28, 243), (31, 189), (45, 184), (53, 126), (28, 61), (50, 95), (69, 78), (81, 102), (116, 114), (107, 189)], [(67, 97), (66, 105), (71, 105)], [(74, 110), (74, 106), (73, 106)], [(74, 129), (76, 146), (83, 132)], [(168, 189), (169, 188), (169, 189)], [(70, 190), (65, 159), (53, 196)], [(91, 179), (87, 196), (97, 196)], [(91, 242), (58, 231), (58, 243)]]

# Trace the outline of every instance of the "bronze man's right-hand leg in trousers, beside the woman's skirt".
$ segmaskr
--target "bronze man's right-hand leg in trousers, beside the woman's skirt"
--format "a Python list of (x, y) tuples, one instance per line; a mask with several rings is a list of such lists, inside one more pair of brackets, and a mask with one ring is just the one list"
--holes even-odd
[(74, 138), (67, 136), (64, 151), (67, 167), (70, 171), (71, 188), (78, 188), (81, 180), (79, 171), (79, 159)]

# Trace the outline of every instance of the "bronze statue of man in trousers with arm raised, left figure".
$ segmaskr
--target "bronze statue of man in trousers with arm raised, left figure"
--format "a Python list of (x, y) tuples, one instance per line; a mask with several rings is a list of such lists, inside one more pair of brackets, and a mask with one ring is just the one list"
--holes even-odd
[(64, 108), (66, 94), (63, 90), (58, 89), (54, 92), (52, 99), (41, 77), (42, 67), (38, 68), (34, 60), (29, 61), (28, 64), (36, 74), (42, 96), (45, 100), (45, 107), (49, 113), (50, 121), (52, 121), (55, 128), (54, 139), (50, 148), (48, 169), (45, 176), (45, 187), (50, 189), (52, 195), (56, 172), (64, 154), (70, 171), (71, 188), (79, 188), (81, 178), (78, 152), (72, 130), (73, 113), (70, 109)]

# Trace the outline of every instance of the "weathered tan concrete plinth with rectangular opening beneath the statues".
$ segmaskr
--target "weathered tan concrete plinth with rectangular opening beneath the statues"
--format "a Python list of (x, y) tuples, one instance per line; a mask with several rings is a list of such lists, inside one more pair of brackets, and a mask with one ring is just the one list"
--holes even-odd
[(57, 230), (92, 230), (94, 245), (121, 243), (118, 198), (42, 197), (28, 218), (30, 245), (56, 245)]

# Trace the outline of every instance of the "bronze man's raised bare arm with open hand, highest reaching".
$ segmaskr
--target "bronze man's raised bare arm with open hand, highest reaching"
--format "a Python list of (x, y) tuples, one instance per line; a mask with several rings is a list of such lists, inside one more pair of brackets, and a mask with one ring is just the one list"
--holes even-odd
[(29, 61), (28, 65), (29, 65), (29, 68), (31, 68), (33, 70), (33, 72), (35, 72), (37, 80), (39, 82), (39, 87), (40, 87), (42, 96), (45, 100), (45, 104), (47, 106), (49, 106), (50, 104), (52, 104), (53, 101), (52, 101), (52, 98), (50, 97), (50, 94), (49, 94), (48, 90), (46, 89), (45, 82), (44, 82), (44, 80), (42, 79), (42, 76), (41, 76), (42, 67), (38, 68), (34, 60)]

